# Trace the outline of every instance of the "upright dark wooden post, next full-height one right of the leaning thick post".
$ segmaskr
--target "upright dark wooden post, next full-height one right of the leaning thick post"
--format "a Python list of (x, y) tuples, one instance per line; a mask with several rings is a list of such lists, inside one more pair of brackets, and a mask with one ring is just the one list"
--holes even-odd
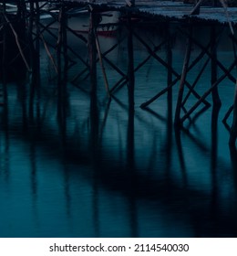
[[(211, 26), (211, 85), (217, 81), (217, 50), (216, 50), (216, 27)], [(216, 86), (211, 91), (212, 101), (214, 105), (221, 106), (222, 102)]]

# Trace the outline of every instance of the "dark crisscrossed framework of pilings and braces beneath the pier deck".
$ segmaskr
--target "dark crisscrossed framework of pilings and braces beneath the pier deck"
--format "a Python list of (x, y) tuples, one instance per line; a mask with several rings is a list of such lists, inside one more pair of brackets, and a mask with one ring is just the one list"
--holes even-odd
[[(92, 98), (97, 97), (97, 83), (98, 83), (98, 75), (97, 75), (97, 65), (99, 64), (102, 69), (103, 80), (106, 86), (106, 90), (108, 93), (108, 97), (110, 97), (111, 93), (114, 93), (116, 90), (123, 88), (124, 85), (128, 85), (128, 99), (129, 99), (129, 110), (134, 111), (135, 99), (134, 99), (134, 90), (136, 86), (136, 72), (145, 66), (147, 61), (151, 58), (155, 59), (157, 64), (161, 65), (162, 68), (167, 70), (167, 77), (165, 81), (165, 87), (161, 88), (160, 91), (156, 95), (151, 95), (149, 101), (143, 102), (140, 107), (142, 109), (149, 106), (149, 104), (160, 98), (161, 95), (167, 93), (167, 101), (168, 107), (172, 109), (172, 102), (174, 101), (173, 97), (173, 87), (179, 83), (178, 96), (177, 96), (177, 104), (175, 109), (175, 116), (173, 123), (176, 127), (183, 126), (185, 120), (189, 119), (191, 121), (195, 120), (195, 118), (191, 119), (191, 114), (197, 110), (201, 104), (204, 104), (205, 110), (211, 106), (209, 102), (210, 99), (207, 100), (208, 96), (211, 96), (212, 103), (215, 106), (221, 106), (221, 97), (219, 95), (218, 86), (224, 79), (229, 79), (234, 84), (236, 83), (236, 78), (232, 74), (232, 70), (236, 67), (236, 53), (234, 52), (234, 60), (232, 61), (229, 67), (226, 67), (222, 60), (219, 59), (218, 56), (218, 38), (221, 33), (221, 29), (219, 30), (220, 25), (224, 24), (224, 27), (228, 27), (230, 25), (230, 17), (224, 23), (222, 22), (221, 16), (217, 16), (217, 20), (211, 20), (209, 18), (203, 18), (200, 16), (191, 16), (191, 10), (189, 10), (189, 15), (179, 16), (165, 16), (161, 11), (157, 13), (154, 12), (152, 16), (148, 13), (148, 11), (140, 11), (139, 7), (134, 6), (134, 1), (130, 2), (129, 6), (115, 6), (115, 5), (98, 5), (97, 3), (78, 3), (74, 1), (54, 1), (53, 5), (55, 5), (54, 11), (50, 9), (46, 9), (46, 4), (42, 5), (41, 0), (32, 0), (32, 1), (24, 1), (20, 0), (15, 5), (17, 7), (17, 12), (15, 13), (15, 17), (20, 18), (23, 23), (25, 21), (26, 31), (26, 42), (27, 44), (23, 44), (22, 40), (20, 40), (20, 35), (18, 31), (15, 29), (15, 25), (13, 24), (11, 18), (6, 13), (6, 3), (8, 1), (2, 1), (1, 5), (1, 73), (3, 80), (3, 87), (5, 87), (5, 78), (7, 73), (7, 34), (11, 31), (12, 37), (15, 38), (15, 48), (17, 50), (17, 54), (15, 59), (20, 57), (21, 61), (24, 63), (26, 70), (32, 76), (31, 81), (31, 91), (30, 91), (30, 100), (29, 104), (33, 105), (34, 98), (36, 97), (36, 91), (39, 88), (40, 83), (40, 44), (43, 43), (45, 47), (46, 54), (49, 57), (51, 64), (56, 70), (57, 75), (57, 96), (58, 96), (58, 104), (61, 104), (64, 99), (67, 97), (67, 70), (69, 67), (72, 67), (77, 61), (70, 59), (70, 54), (74, 55), (77, 60), (83, 63), (84, 68), (80, 68), (78, 70), (78, 74), (73, 79), (73, 83), (77, 84), (77, 80), (82, 77), (89, 77), (90, 80), (90, 89), (89, 92)], [(27, 2), (27, 3), (26, 3)], [(45, 1), (44, 1), (45, 2)], [(46, 1), (47, 2), (47, 1)], [(200, 1), (201, 2), (201, 1)], [(10, 3), (10, 1), (9, 1)], [(129, 2), (128, 2), (129, 3)], [(26, 5), (27, 4), (27, 5)], [(52, 4), (52, 3), (50, 3)], [(148, 4), (150, 5), (150, 4)], [(156, 3), (156, 5), (159, 5)], [(82, 35), (80, 32), (76, 32), (72, 27), (68, 26), (67, 23), (67, 10), (73, 10), (75, 7), (77, 13), (77, 7), (83, 6), (88, 8), (89, 11), (89, 24), (88, 24), (88, 35)], [(196, 5), (196, 7), (200, 7), (200, 4)], [(118, 42), (109, 48), (106, 52), (100, 47), (100, 40), (98, 37), (98, 29), (101, 26), (101, 12), (105, 10), (116, 10), (118, 11), (124, 18), (121, 22), (119, 21), (116, 24), (119, 27), (125, 28), (126, 36), (124, 38), (119, 38)], [(160, 10), (160, 9), (158, 9)], [(195, 9), (193, 9), (195, 11)], [(201, 10), (202, 11), (202, 10)], [(206, 11), (206, 10), (205, 10)], [(180, 11), (179, 11), (180, 12)], [(207, 12), (207, 11), (206, 11)], [(74, 13), (72, 11), (72, 13)], [(52, 16), (53, 21), (50, 21), (48, 25), (46, 25), (41, 20), (41, 14), (47, 14)], [(193, 13), (192, 13), (193, 14)], [(211, 16), (211, 14), (207, 13), (207, 16)], [(12, 16), (12, 14), (11, 14)], [(135, 18), (134, 18), (135, 17)], [(138, 21), (134, 21), (137, 20)], [(58, 19), (57, 19), (58, 18)], [(121, 19), (122, 20), (122, 19)], [(182, 36), (186, 37), (186, 53), (182, 63), (182, 70), (177, 71), (173, 67), (173, 51), (172, 51), (172, 36), (170, 35), (171, 24), (174, 22), (176, 24), (176, 30), (178, 33), (182, 33)], [(26, 26), (27, 24), (27, 26)], [(152, 42), (152, 45), (149, 43), (149, 39), (146, 37), (142, 37), (139, 34), (139, 26), (142, 24), (143, 29), (147, 29), (148, 27), (164, 27), (165, 29), (165, 37), (164, 41), (159, 42), (159, 44)], [(179, 24), (179, 26), (177, 26)], [(54, 28), (57, 26), (57, 35), (52, 32), (51, 26), (54, 25)], [(108, 25), (108, 26), (114, 26)], [(193, 30), (197, 26), (210, 27), (210, 41), (202, 42), (200, 38), (195, 37), (195, 33)], [(185, 29), (187, 28), (188, 29)], [(100, 27), (101, 28), (101, 27)], [(232, 28), (232, 27), (231, 27)], [(152, 29), (151, 29), (152, 30)], [(231, 29), (232, 30), (232, 29)], [(54, 40), (56, 40), (56, 44), (54, 42), (46, 42), (45, 33), (50, 35)], [(154, 29), (152, 33), (157, 33), (157, 30)], [(77, 50), (72, 48), (68, 41), (67, 35), (72, 34), (75, 40), (83, 41), (83, 43), (88, 45), (88, 59), (82, 57)], [(108, 58), (108, 53), (113, 51), (115, 48), (122, 43), (123, 40), (127, 40), (126, 42), (126, 52), (128, 52), (128, 67), (127, 72), (120, 68), (117, 64), (115, 64), (112, 60)], [(142, 48), (145, 48), (148, 53), (148, 57), (143, 59), (139, 64), (134, 63), (134, 41), (138, 41)], [(53, 40), (52, 40), (53, 41)], [(232, 42), (233, 45), (236, 44), (236, 39), (233, 35), (232, 30)], [(162, 59), (160, 55), (160, 48), (165, 46), (165, 59)], [(199, 48), (200, 53), (194, 60), (191, 61), (192, 55), (192, 47)], [(56, 49), (57, 59), (54, 59), (53, 54), (50, 52), (51, 48)], [(26, 54), (28, 53), (28, 54)], [(204, 59), (207, 58), (207, 59)], [(204, 63), (201, 63), (201, 60), (204, 59)], [(70, 62), (71, 61), (71, 62)], [(108, 88), (109, 79), (105, 70), (104, 63), (108, 64), (110, 68), (115, 70), (120, 78), (115, 82), (114, 86)], [(197, 64), (201, 64), (201, 69), (196, 72), (194, 81), (190, 82), (189, 75), (190, 72)], [(210, 64), (211, 63), (211, 64)], [(201, 77), (204, 73), (204, 70), (208, 67), (208, 64), (211, 65), (211, 87), (207, 88), (206, 91), (202, 92), (202, 94), (198, 91), (197, 85), (201, 80)], [(219, 70), (222, 71), (222, 75), (218, 77)], [(62, 82), (63, 80), (63, 82)], [(114, 82), (114, 81), (113, 81)], [(110, 85), (110, 84), (109, 84)], [(37, 89), (36, 89), (37, 88)], [(149, 90), (149, 89), (148, 89)], [(232, 128), (230, 135), (230, 144), (235, 144), (237, 139), (237, 99), (235, 89), (234, 101), (226, 113), (223, 122), (226, 123), (227, 119), (231, 116), (233, 112), (232, 119)], [(187, 92), (187, 93), (186, 93)], [(186, 93), (186, 94), (185, 94)], [(6, 95), (6, 91), (4, 91), (4, 95)], [(39, 92), (37, 92), (37, 101), (39, 101)], [(190, 99), (190, 96), (194, 96), (197, 101), (190, 106), (186, 104)], [(97, 102), (97, 101), (95, 101)], [(33, 108), (32, 108), (33, 110)], [(169, 110), (169, 112), (170, 112)], [(203, 111), (203, 109), (202, 109)], [(182, 113), (183, 112), (183, 113)], [(132, 116), (132, 114), (131, 114)]]

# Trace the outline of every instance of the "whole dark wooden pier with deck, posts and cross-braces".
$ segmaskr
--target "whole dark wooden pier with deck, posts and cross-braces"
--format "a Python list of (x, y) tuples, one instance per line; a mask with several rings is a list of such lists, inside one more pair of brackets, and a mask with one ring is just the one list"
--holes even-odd
[[(15, 5), (15, 10), (7, 9), (7, 3)], [(201, 2), (200, 2), (201, 3)], [(203, 4), (203, 3), (202, 3)], [(88, 10), (90, 16), (90, 22), (88, 25), (88, 34), (77, 33), (71, 27), (68, 27), (67, 19), (73, 12), (77, 12), (78, 8), (84, 7)], [(198, 9), (198, 12), (197, 12)], [(1, 73), (3, 80), (5, 102), (7, 102), (7, 91), (5, 87), (5, 73), (7, 67), (5, 66), (5, 51), (6, 51), (6, 33), (5, 31), (11, 31), (15, 40), (15, 48), (17, 53), (15, 58), (20, 58), (22, 66), (25, 66), (26, 72), (31, 74), (31, 97), (32, 101), (37, 94), (37, 88), (39, 84), (40, 75), (40, 48), (42, 43), (46, 50), (46, 54), (51, 61), (52, 67), (57, 74), (58, 86), (58, 106), (62, 110), (61, 105), (65, 103), (66, 94), (66, 80), (67, 71), (70, 66), (73, 65), (71, 59), (68, 58), (68, 52), (77, 56), (78, 61), (83, 63), (84, 69), (78, 71), (78, 75), (74, 78), (74, 83), (77, 84), (79, 77), (89, 77), (90, 79), (90, 93), (93, 102), (96, 102), (97, 98), (97, 66), (100, 65), (106, 91), (108, 94), (108, 101), (116, 93), (118, 88), (124, 85), (128, 86), (128, 99), (129, 99), (129, 112), (130, 120), (132, 122), (132, 115), (134, 112), (134, 89), (136, 87), (136, 72), (145, 65), (148, 59), (155, 59), (160, 65), (167, 69), (167, 85), (161, 91), (158, 91), (156, 95), (152, 95), (150, 99), (143, 102), (140, 107), (146, 109), (153, 101), (160, 98), (161, 95), (167, 94), (168, 101), (172, 101), (172, 88), (174, 86), (179, 87), (179, 93), (176, 99), (176, 108), (173, 123), (177, 129), (185, 127), (185, 122), (188, 120), (194, 122), (197, 116), (204, 112), (206, 109), (213, 105), (213, 108), (219, 109), (222, 101), (220, 99), (218, 86), (224, 79), (230, 80), (235, 87), (233, 90), (233, 97), (230, 100), (230, 109), (226, 113), (223, 123), (228, 127), (228, 120), (232, 115), (232, 125), (230, 125), (230, 141), (231, 146), (235, 146), (237, 139), (237, 83), (236, 73), (234, 69), (237, 67), (236, 56), (236, 43), (237, 37), (234, 34), (235, 27), (237, 25), (237, 7), (228, 8), (222, 2), (218, 6), (207, 6), (198, 4), (185, 5), (182, 2), (176, 1), (132, 1), (126, 2), (109, 2), (109, 3), (88, 3), (80, 1), (3, 1), (1, 5)], [(101, 24), (100, 13), (106, 11), (117, 11), (120, 14), (118, 23)], [(197, 13), (197, 15), (195, 15)], [(42, 16), (50, 16), (48, 24), (42, 22)], [(15, 23), (19, 21), (26, 24), (24, 31), (16, 31)], [(170, 31), (170, 25), (175, 24), (178, 33), (181, 33), (183, 37), (186, 37), (186, 50), (183, 58), (183, 64), (181, 72), (174, 69), (172, 65), (172, 35)], [(50, 27), (54, 25), (57, 28), (57, 33), (53, 34)], [(101, 51), (101, 47), (98, 39), (98, 31), (103, 28), (104, 31), (109, 32), (109, 27), (118, 26), (124, 27), (126, 32), (125, 38), (127, 40), (128, 50), (128, 66), (127, 72), (119, 69), (115, 63), (108, 58), (108, 53), (118, 47), (118, 44), (109, 48), (106, 52)], [(158, 29), (163, 28), (166, 33), (165, 40), (159, 45), (152, 44), (144, 37), (140, 37), (139, 29), (149, 29), (152, 33), (156, 33)], [(205, 27), (205, 31), (208, 29), (210, 35), (208, 41), (201, 40), (195, 35), (195, 27)], [(226, 40), (232, 42), (232, 63), (229, 67), (222, 64), (222, 61), (218, 59), (218, 44), (219, 39), (222, 37), (223, 27), (229, 29), (229, 36)], [(47, 42), (44, 33), (48, 32), (55, 38), (55, 43)], [(67, 43), (67, 32), (72, 33), (77, 40), (81, 43), (88, 45), (88, 61), (82, 56), (78, 55)], [(20, 40), (24, 34), (24, 40)], [(134, 50), (133, 40), (136, 39), (147, 50), (149, 57), (144, 59), (137, 67), (134, 65)], [(199, 48), (200, 53), (198, 56), (192, 56), (192, 48)], [(53, 56), (50, 52), (50, 48), (55, 48), (57, 55)], [(162, 59), (159, 55), (159, 49), (166, 49), (166, 59)], [(12, 58), (12, 57), (11, 57)], [(12, 58), (9, 63), (13, 63), (15, 58)], [(201, 60), (205, 58), (204, 64)], [(107, 71), (104, 66), (106, 62), (112, 69), (114, 69), (121, 76), (121, 79), (116, 84), (111, 85), (108, 81)], [(201, 65), (201, 69), (194, 81), (188, 80), (188, 75), (196, 65)], [(202, 73), (208, 65), (211, 65), (211, 82), (210, 86), (207, 86), (206, 91), (199, 92), (196, 88), (201, 80)], [(220, 72), (218, 72), (218, 70)], [(221, 74), (218, 76), (218, 74)], [(149, 88), (148, 88), (149, 90)], [(211, 95), (211, 102), (207, 100)], [(190, 106), (189, 98), (193, 96), (196, 98), (196, 103)], [(201, 108), (201, 111), (197, 112), (197, 109)]]

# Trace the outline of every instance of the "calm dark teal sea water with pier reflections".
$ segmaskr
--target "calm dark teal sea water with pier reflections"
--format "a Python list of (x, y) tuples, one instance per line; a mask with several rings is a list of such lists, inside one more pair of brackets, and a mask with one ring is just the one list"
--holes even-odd
[[(172, 34), (177, 72), (185, 48), (179, 33)], [(208, 38), (206, 30), (195, 33)], [(140, 35), (152, 47), (163, 39), (154, 34)], [(102, 51), (122, 35), (99, 37)], [(87, 47), (70, 40), (87, 59)], [(108, 54), (124, 73), (126, 40)], [(199, 52), (193, 47), (191, 58)], [(185, 123), (189, 132), (175, 133), (170, 120), (179, 83), (172, 104), (163, 95), (148, 110), (139, 108), (166, 86), (167, 70), (156, 59), (136, 72), (132, 115), (127, 85), (108, 101), (98, 64), (98, 100), (91, 101), (88, 79), (71, 82), (85, 66), (68, 54), (77, 63), (68, 70), (64, 107), (58, 108), (56, 74), (43, 46), (34, 101), (29, 100), (30, 79), (7, 85), (8, 107), (0, 114), (0, 237), (235, 237), (237, 158), (222, 124), (232, 105), (232, 82), (219, 86), (220, 112), (211, 107), (195, 123)], [(157, 54), (166, 59), (164, 48)], [(135, 67), (149, 56), (136, 39), (134, 56)], [(232, 63), (231, 44), (224, 38), (218, 57), (226, 68)], [(204, 62), (191, 70), (188, 80), (195, 79)], [(112, 88), (121, 77), (108, 63), (105, 67)], [(197, 91), (210, 86), (209, 65)], [(191, 97), (187, 108), (195, 101)]]

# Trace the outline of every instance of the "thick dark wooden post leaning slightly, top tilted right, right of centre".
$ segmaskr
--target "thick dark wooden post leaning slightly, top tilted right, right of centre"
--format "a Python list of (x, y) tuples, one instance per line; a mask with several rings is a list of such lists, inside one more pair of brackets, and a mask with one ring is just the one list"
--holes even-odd
[[(191, 30), (192, 30), (192, 27), (190, 25), (190, 32), (191, 32)], [(186, 45), (186, 54), (185, 54), (185, 58), (183, 61), (182, 73), (181, 73), (181, 78), (180, 78), (180, 89), (179, 89), (179, 95), (178, 95), (175, 119), (174, 119), (174, 124), (177, 127), (181, 125), (180, 112), (181, 112), (181, 106), (182, 106), (182, 96), (183, 96), (186, 76), (188, 73), (190, 58), (191, 58), (191, 37), (188, 36), (187, 45)]]

